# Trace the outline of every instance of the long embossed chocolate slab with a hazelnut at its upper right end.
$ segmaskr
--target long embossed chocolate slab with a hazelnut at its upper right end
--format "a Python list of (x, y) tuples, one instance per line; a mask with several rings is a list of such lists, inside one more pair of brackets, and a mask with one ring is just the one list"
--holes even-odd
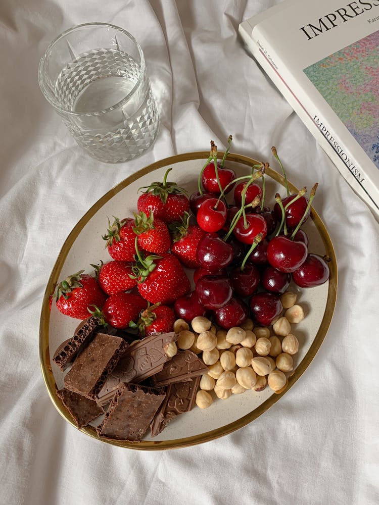
[(165, 354), (165, 346), (176, 339), (177, 334), (171, 331), (145, 337), (130, 345), (99, 392), (98, 403), (106, 405), (113, 398), (114, 392), (121, 382), (141, 382), (160, 372), (163, 365), (170, 359)]

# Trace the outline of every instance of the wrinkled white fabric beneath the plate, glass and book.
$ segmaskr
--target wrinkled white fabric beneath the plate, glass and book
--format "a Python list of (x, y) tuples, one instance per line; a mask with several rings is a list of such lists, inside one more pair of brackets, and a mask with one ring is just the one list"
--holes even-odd
[[(0, 5), (0, 503), (369, 505), (379, 503), (379, 227), (245, 50), (239, 23), (272, 0), (2, 0)], [(37, 66), (63, 30), (103, 21), (144, 49), (160, 113), (154, 147), (129, 163), (89, 158), (43, 98)], [(334, 243), (334, 319), (291, 390), (250, 425), (170, 451), (98, 442), (55, 410), (39, 367), (42, 296), (77, 221), (155, 160), (271, 145)]]

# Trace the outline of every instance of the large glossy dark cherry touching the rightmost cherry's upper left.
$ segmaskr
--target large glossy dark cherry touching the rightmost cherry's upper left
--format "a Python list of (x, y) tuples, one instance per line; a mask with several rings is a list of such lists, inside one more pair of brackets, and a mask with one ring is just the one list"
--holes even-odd
[(294, 272), (304, 263), (307, 254), (304, 242), (295, 242), (283, 235), (272, 238), (267, 247), (269, 264), (281, 272)]

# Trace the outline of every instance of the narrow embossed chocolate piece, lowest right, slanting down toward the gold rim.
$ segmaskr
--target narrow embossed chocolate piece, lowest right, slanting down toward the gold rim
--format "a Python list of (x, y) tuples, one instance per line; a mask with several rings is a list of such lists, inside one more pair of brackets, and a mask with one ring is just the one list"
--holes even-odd
[(200, 379), (199, 375), (195, 379), (187, 382), (176, 382), (167, 387), (166, 398), (150, 425), (152, 437), (161, 433), (175, 417), (192, 410), (195, 405)]

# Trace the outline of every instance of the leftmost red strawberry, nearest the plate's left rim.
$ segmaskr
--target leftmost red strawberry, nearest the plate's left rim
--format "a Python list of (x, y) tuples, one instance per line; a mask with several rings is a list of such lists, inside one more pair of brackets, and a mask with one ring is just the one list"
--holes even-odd
[(58, 310), (76, 319), (86, 319), (89, 316), (88, 307), (103, 307), (106, 300), (96, 279), (83, 272), (84, 270), (80, 270), (69, 275), (57, 284), (53, 295), (56, 297)]

